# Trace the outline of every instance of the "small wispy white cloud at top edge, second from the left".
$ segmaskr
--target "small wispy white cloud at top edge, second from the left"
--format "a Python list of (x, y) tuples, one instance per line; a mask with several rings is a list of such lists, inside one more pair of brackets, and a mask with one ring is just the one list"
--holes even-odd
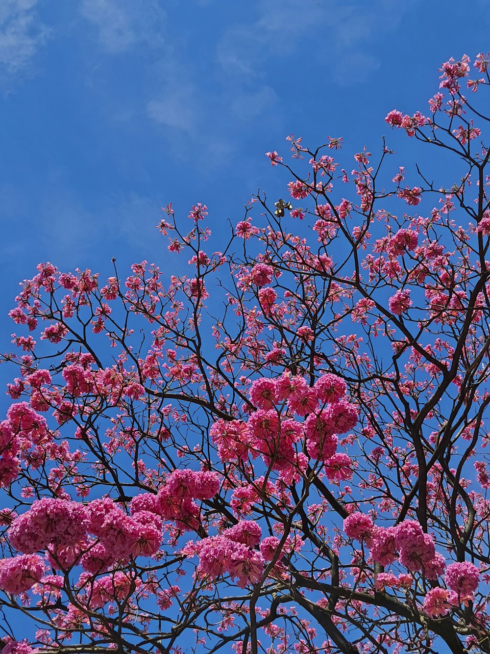
[(111, 54), (140, 43), (164, 43), (166, 14), (157, 0), (82, 0), (80, 12), (97, 29), (101, 45)]

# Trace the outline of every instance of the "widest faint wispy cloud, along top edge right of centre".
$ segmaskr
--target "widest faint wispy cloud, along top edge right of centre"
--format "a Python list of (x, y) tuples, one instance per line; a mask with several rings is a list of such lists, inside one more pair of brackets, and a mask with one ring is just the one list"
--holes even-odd
[(271, 61), (282, 60), (284, 66), (284, 59), (298, 52), (312, 65), (321, 61), (323, 75), (333, 71), (333, 64), (336, 81), (346, 84), (353, 71), (366, 74), (378, 68), (372, 44), (393, 31), (402, 14), (392, 0), (364, 5), (355, 0), (259, 0), (255, 16), (225, 31), (216, 58), (225, 73), (250, 83), (265, 75), (264, 65), (269, 71)]

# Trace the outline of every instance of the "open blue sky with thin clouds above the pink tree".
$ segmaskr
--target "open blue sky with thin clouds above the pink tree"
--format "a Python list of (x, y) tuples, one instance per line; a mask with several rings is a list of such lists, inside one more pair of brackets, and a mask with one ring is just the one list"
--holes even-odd
[(170, 270), (154, 228), (167, 202), (184, 219), (206, 203), (216, 230), (259, 186), (284, 195), (264, 153), (286, 154), (288, 133), (342, 136), (344, 156), (378, 148), (387, 111), (427, 109), (442, 61), (490, 49), (486, 0), (463, 13), (452, 0), (2, 0), (0, 349), (38, 262)]

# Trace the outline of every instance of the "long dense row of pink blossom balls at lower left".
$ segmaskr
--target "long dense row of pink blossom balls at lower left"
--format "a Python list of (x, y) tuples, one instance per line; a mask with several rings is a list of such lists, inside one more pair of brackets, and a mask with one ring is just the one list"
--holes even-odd
[(161, 545), (163, 519), (176, 521), (182, 530), (197, 528), (199, 507), (193, 500), (210, 499), (219, 487), (217, 473), (174, 470), (157, 494), (133, 498), (131, 515), (110, 498), (86, 506), (57, 498), (36, 500), (8, 529), (10, 545), (26, 555), (7, 559), (8, 565), (27, 565), (36, 560), (29, 555), (46, 550), (54, 568), (80, 563), (86, 572), (98, 574), (116, 561), (152, 557)]

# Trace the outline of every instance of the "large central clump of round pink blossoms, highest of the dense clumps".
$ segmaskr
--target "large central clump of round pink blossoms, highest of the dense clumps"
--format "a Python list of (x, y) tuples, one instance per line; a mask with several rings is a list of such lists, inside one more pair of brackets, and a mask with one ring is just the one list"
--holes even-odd
[[(257, 409), (248, 422), (219, 420), (210, 430), (218, 455), (229, 462), (244, 461), (249, 453), (254, 458), (261, 455), (272, 470), (289, 473), (292, 479), (293, 468), (306, 465), (294, 447), (305, 439), (308, 455), (325, 461), (331, 481), (350, 479), (350, 457), (335, 454), (336, 434), (357, 424), (357, 409), (344, 398), (346, 390), (344, 379), (331, 373), (321, 375), (314, 387), (289, 371), (278, 379), (255, 379), (249, 395)], [(293, 415), (306, 419), (299, 422)]]

